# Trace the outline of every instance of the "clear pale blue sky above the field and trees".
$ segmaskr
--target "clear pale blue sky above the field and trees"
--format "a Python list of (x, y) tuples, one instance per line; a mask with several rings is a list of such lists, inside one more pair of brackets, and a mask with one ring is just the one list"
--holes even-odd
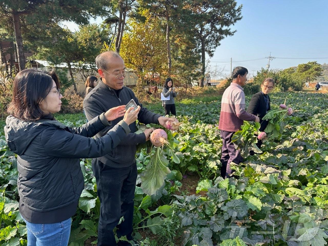
[[(327, 0), (237, 0), (242, 4), (243, 18), (232, 30), (235, 35), (226, 37), (210, 59), (212, 70), (223, 70), (221, 77), (230, 74), (232, 67), (244, 66), (250, 77), (270, 61), (271, 69), (285, 69), (300, 63), (317, 61), (328, 63), (328, 1)], [(101, 19), (91, 20), (100, 23)], [(72, 31), (74, 23), (64, 23)], [(281, 59), (319, 58), (326, 59)], [(255, 61), (247, 61), (264, 58)]]

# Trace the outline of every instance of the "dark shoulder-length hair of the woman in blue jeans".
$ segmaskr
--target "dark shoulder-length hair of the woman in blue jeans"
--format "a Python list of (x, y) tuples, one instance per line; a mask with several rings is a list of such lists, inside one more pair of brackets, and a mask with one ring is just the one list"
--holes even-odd
[(59, 79), (54, 71), (25, 69), (17, 73), (13, 82), (13, 93), (8, 113), (26, 121), (41, 119), (45, 115), (39, 104), (49, 94), (52, 80), (55, 81), (56, 87), (59, 89)]

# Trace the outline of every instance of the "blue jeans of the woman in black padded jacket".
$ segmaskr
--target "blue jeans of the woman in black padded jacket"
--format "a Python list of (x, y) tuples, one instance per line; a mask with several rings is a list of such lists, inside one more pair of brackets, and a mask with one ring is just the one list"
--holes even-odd
[(27, 228), (27, 246), (67, 246), (72, 219), (53, 224), (34, 224), (24, 219)]

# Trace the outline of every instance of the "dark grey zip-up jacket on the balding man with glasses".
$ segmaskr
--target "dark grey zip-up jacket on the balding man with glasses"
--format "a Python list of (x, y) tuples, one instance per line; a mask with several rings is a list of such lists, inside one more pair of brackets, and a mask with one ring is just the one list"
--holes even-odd
[[(119, 92), (119, 96), (116, 92), (109, 88), (102, 80), (99, 81), (98, 85), (85, 97), (83, 101), (84, 112), (87, 119), (92, 119), (98, 115), (99, 112), (103, 112), (105, 108), (113, 108), (119, 105), (126, 105), (131, 99), (135, 101), (137, 105), (141, 107), (138, 113), (138, 121), (144, 124), (156, 123), (158, 124), (158, 117), (160, 114), (152, 113), (139, 103), (135, 97), (133, 91), (123, 86)], [(112, 123), (115, 124), (121, 120), (118, 118)], [(135, 162), (136, 145), (145, 143), (145, 134), (135, 134), (136, 124), (133, 122), (129, 125), (131, 133), (129, 133), (120, 144), (113, 149), (112, 153), (106, 154), (99, 157), (98, 160), (110, 167), (129, 167)], [(112, 126), (106, 127), (103, 131), (99, 132), (96, 137), (103, 136), (106, 131), (111, 129)]]

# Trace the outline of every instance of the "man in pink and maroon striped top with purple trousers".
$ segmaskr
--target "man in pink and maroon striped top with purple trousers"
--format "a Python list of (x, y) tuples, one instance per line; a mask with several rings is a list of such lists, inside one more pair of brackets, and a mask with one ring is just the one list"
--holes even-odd
[(254, 114), (245, 110), (245, 94), (243, 86), (247, 81), (248, 70), (244, 67), (236, 67), (232, 72), (232, 83), (224, 91), (221, 101), (221, 113), (219, 121), (220, 135), (223, 146), (221, 151), (221, 176), (230, 177), (233, 170), (230, 169), (230, 162), (239, 164), (242, 157), (235, 149), (231, 138), (235, 132), (241, 130), (244, 120), (259, 122), (260, 119)]

